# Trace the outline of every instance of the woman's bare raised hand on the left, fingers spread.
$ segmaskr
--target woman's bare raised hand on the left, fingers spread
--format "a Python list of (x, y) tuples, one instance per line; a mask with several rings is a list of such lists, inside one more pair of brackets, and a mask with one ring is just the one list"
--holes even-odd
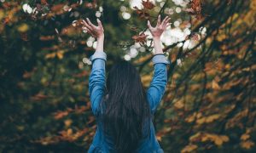
[(104, 37), (104, 29), (103, 29), (101, 20), (97, 19), (98, 26), (93, 25), (88, 18), (86, 18), (86, 21), (83, 20), (83, 24), (86, 28), (86, 31), (90, 33), (92, 37), (95, 37), (95, 38)]

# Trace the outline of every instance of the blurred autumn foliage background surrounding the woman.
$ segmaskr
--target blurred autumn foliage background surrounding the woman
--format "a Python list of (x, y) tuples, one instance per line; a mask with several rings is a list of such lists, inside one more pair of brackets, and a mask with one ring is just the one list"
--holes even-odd
[(168, 84), (154, 116), (166, 152), (256, 151), (254, 0), (0, 0), (0, 152), (84, 152), (96, 132), (90, 55), (81, 21), (102, 20), (107, 73), (131, 61), (143, 85), (154, 53), (147, 20), (172, 18), (161, 37)]

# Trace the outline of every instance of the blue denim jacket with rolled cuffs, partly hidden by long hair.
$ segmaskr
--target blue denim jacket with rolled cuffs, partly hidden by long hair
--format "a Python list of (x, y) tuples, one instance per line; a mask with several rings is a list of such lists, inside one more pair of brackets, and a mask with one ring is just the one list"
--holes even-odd
[[(92, 62), (92, 70), (89, 77), (89, 93), (90, 105), (93, 114), (96, 116), (99, 113), (99, 103), (101, 102), (105, 91), (105, 62), (107, 55), (103, 51), (96, 51), (90, 56)], [(147, 91), (148, 103), (152, 115), (156, 111), (160, 100), (165, 92), (167, 83), (166, 65), (170, 62), (163, 54), (155, 54), (153, 59), (154, 76)], [(89, 153), (108, 153), (116, 152), (113, 150), (113, 143), (102, 132), (102, 123), (97, 122), (96, 134), (92, 144), (88, 150)], [(162, 153), (160, 144), (157, 141), (154, 133), (154, 125), (150, 121), (150, 134), (147, 139), (140, 140), (139, 147), (136, 152), (140, 153)]]

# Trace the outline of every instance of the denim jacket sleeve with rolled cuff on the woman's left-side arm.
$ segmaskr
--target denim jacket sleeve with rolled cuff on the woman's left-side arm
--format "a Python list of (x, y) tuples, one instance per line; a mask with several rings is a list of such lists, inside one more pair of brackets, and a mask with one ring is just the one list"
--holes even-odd
[(94, 115), (98, 114), (98, 106), (105, 92), (105, 62), (107, 55), (97, 51), (90, 56), (92, 69), (89, 77), (90, 105)]

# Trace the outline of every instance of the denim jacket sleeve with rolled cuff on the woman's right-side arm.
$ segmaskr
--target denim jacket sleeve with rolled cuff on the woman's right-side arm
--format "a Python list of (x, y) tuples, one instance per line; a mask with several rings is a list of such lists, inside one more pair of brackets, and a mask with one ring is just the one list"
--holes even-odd
[(152, 60), (154, 63), (154, 75), (147, 91), (147, 98), (150, 105), (150, 110), (152, 114), (154, 114), (166, 90), (166, 65), (168, 65), (170, 62), (163, 54), (155, 54)]

